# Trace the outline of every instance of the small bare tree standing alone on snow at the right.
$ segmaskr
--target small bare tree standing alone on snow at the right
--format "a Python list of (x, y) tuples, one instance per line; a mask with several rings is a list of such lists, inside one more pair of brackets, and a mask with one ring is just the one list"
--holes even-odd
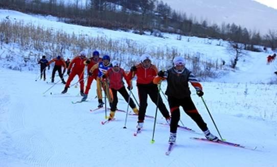
[(229, 45), (227, 47), (228, 52), (232, 56), (231, 58), (231, 67), (235, 68), (237, 65), (237, 62), (239, 61), (239, 58), (246, 55), (244, 45), (241, 43), (236, 43), (234, 41), (229, 41)]

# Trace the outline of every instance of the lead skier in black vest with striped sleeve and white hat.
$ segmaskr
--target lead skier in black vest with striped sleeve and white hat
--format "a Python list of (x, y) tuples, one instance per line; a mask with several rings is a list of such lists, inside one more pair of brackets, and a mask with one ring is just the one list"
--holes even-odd
[(202, 86), (191, 71), (184, 65), (185, 61), (183, 57), (175, 57), (173, 59), (173, 67), (166, 71), (160, 70), (158, 72), (158, 77), (153, 80), (155, 84), (158, 84), (162, 79), (167, 80), (166, 95), (168, 96), (168, 104), (171, 111), (169, 143), (174, 144), (176, 141), (177, 126), (180, 120), (180, 106), (182, 106), (184, 112), (186, 112), (203, 131), (207, 139), (218, 141), (218, 137), (213, 135), (207, 128), (206, 123), (198, 113), (190, 96), (191, 91), (189, 82), (196, 89), (196, 93), (199, 97), (202, 97), (204, 94)]

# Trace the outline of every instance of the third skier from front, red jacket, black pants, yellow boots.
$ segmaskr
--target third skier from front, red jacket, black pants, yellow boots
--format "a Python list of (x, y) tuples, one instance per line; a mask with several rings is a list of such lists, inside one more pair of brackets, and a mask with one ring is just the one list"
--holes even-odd
[[(109, 81), (109, 88), (112, 92), (113, 101), (110, 108), (110, 114), (108, 120), (112, 120), (114, 114), (116, 113), (117, 104), (118, 104), (118, 92), (122, 95), (125, 101), (128, 103), (129, 94), (124, 86), (123, 78), (126, 80), (128, 89), (131, 89), (131, 82), (127, 79), (127, 75), (123, 68), (120, 67), (120, 63), (117, 60), (113, 60), (111, 62), (112, 68), (109, 68), (107, 72), (102, 76), (102, 78), (106, 78)], [(139, 114), (139, 110), (136, 108), (134, 101), (130, 98), (128, 104), (134, 111), (135, 114)]]

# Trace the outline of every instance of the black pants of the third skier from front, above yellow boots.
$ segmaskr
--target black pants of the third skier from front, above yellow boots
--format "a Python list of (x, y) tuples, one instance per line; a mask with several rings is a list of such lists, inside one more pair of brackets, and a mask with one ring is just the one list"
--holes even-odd
[[(116, 108), (117, 108), (117, 105), (118, 105), (118, 92), (123, 96), (125, 101), (128, 103), (129, 94), (128, 94), (125, 86), (123, 86), (119, 90), (111, 89), (111, 91), (112, 91), (112, 96), (113, 96), (113, 101), (112, 101), (111, 108), (110, 108), (111, 111), (116, 111)], [(129, 106), (131, 108), (135, 108), (135, 104), (134, 104), (134, 101), (133, 101), (132, 98), (130, 98)]]

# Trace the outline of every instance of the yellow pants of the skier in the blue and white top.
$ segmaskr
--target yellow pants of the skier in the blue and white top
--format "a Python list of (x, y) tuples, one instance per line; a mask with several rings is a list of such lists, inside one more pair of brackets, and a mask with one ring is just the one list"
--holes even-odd
[(106, 97), (108, 98), (109, 103), (112, 103), (113, 97), (112, 97), (112, 92), (109, 88), (109, 84), (107, 81), (101, 81), (101, 78), (97, 77), (96, 79), (97, 82), (97, 97), (98, 99), (103, 99), (102, 97), (102, 88), (104, 89), (104, 92), (106, 94)]

